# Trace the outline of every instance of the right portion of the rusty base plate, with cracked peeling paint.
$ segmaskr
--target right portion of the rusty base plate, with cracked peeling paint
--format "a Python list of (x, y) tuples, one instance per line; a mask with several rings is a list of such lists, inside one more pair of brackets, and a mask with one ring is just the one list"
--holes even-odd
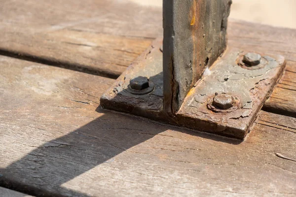
[[(240, 139), (245, 137), (280, 79), (286, 62), (282, 56), (262, 55), (264, 61), (258, 69), (247, 69), (239, 64), (244, 54), (235, 48), (227, 49), (214, 63), (185, 98), (177, 113), (179, 125)], [(209, 108), (209, 100), (216, 94), (237, 98), (240, 107), (232, 111)]]

